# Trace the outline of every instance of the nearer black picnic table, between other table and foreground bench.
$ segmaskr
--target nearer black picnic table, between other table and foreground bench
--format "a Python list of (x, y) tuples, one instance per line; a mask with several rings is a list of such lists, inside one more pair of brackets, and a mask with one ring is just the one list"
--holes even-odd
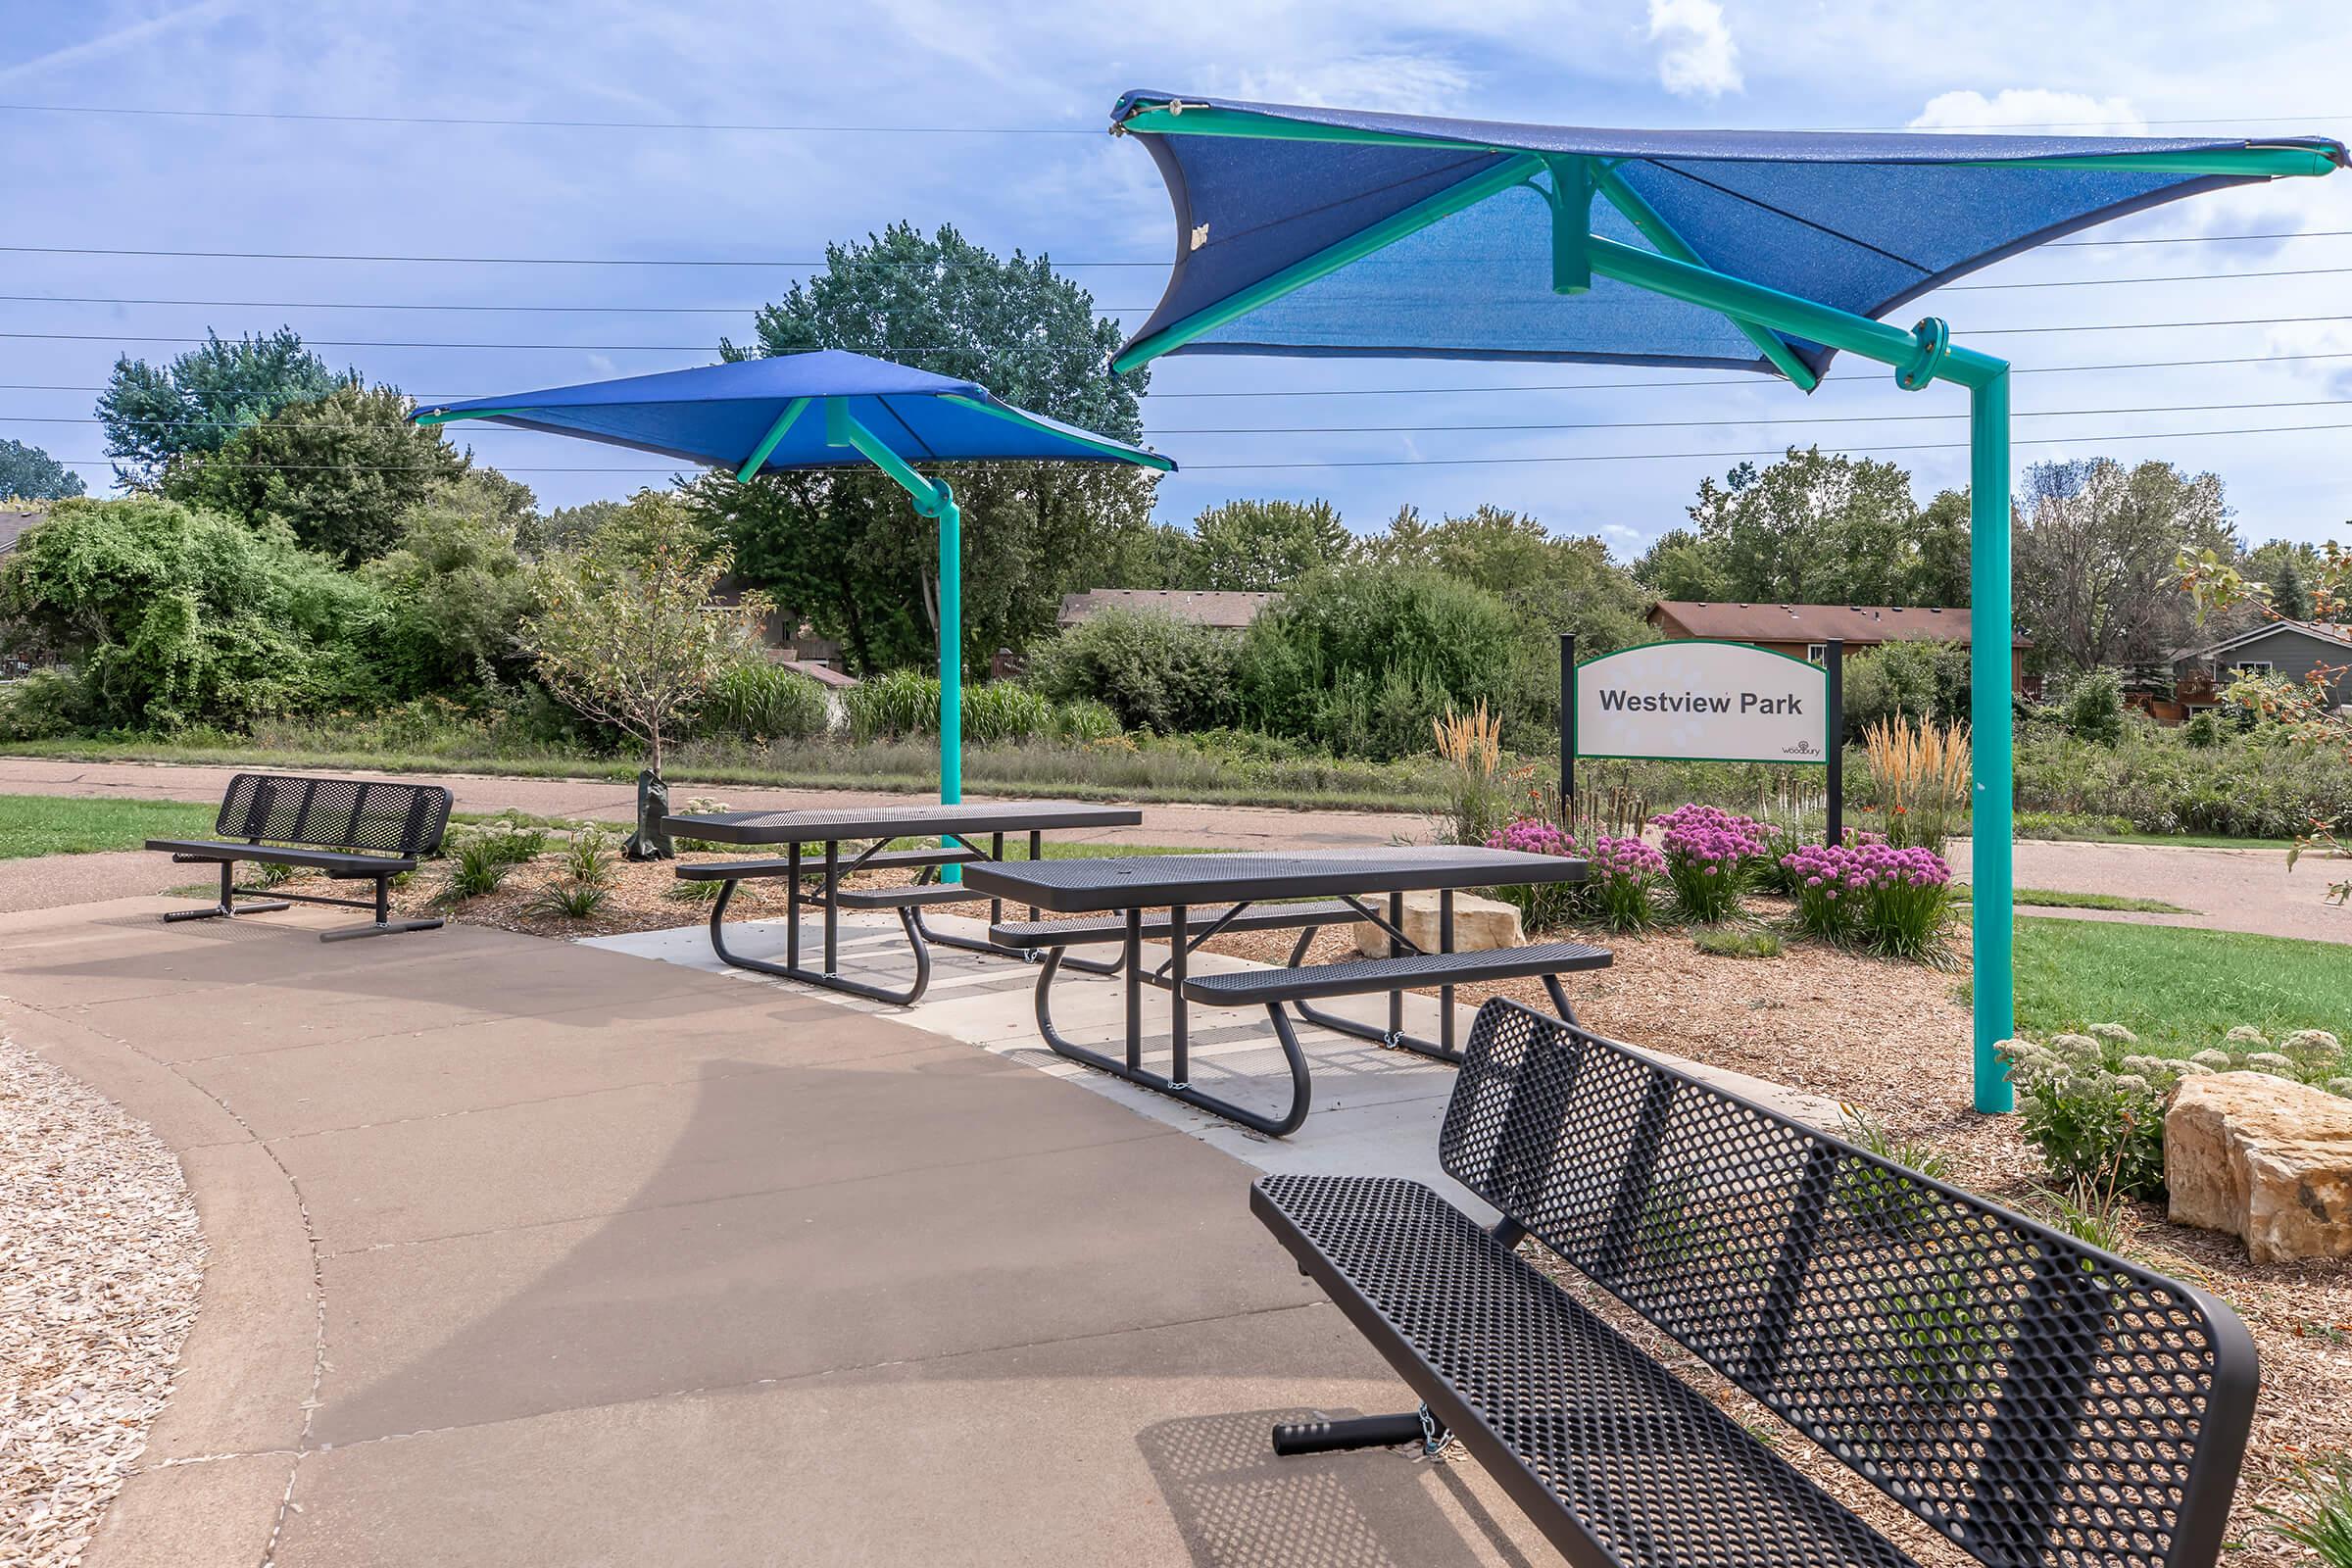
[[(1235, 856), (1122, 856), (1105, 860), (1028, 860), (1018, 865), (971, 865), (964, 886), (1000, 903), (1025, 903), (1058, 914), (1112, 914), (1115, 919), (1063, 919), (1025, 924), (990, 924), (1000, 950), (1044, 950), (1037, 971), (1037, 1032), (1058, 1056), (1110, 1072), (1197, 1110), (1240, 1121), (1272, 1138), (1298, 1131), (1308, 1117), (1310, 1077), (1298, 1034), (1287, 1006), (1301, 1018), (1329, 1030), (1418, 1051), (1437, 1060), (1461, 1063), (1454, 1046), (1454, 983), (1536, 976), (1543, 980), (1562, 1018), (1573, 1023), (1559, 976), (1576, 969), (1604, 969), (1609, 952), (1583, 943), (1536, 943), (1491, 952), (1454, 952), (1454, 893), (1486, 886), (1534, 886), (1583, 882), (1588, 867), (1566, 856), (1531, 856), (1512, 849), (1456, 844), (1406, 844), (1390, 849), (1334, 849), (1312, 853), (1235, 853)], [(1428, 952), (1404, 933), (1404, 896), (1437, 893), (1437, 950)], [(1367, 898), (1385, 893), (1388, 910)], [(1284, 903), (1291, 900), (1291, 903)], [(1216, 912), (1211, 907), (1223, 905)], [(1145, 919), (1145, 910), (1167, 910), (1164, 919)], [(1204, 919), (1195, 924), (1192, 912)], [(1385, 959), (1305, 966), (1315, 931), (1331, 924), (1371, 922), (1388, 933)], [(1296, 929), (1289, 964), (1282, 969), (1247, 969), (1237, 973), (1195, 976), (1190, 957), (1214, 936), (1230, 931)], [(1143, 966), (1143, 938), (1167, 938), (1169, 957), (1160, 969)], [(1054, 1027), (1051, 987), (1068, 947), (1120, 943), (1120, 961), (1110, 971), (1127, 973), (1127, 1053), (1122, 1058), (1073, 1044)], [(1105, 973), (1105, 969), (1096, 969)], [(1143, 987), (1169, 994), (1169, 1072), (1143, 1065)], [(1421, 1039), (1404, 1032), (1404, 992), (1439, 987), (1439, 1037)], [(1312, 1009), (1312, 997), (1348, 997), (1388, 992), (1388, 1027), (1374, 1027)], [(1291, 1103), (1282, 1114), (1261, 1114), (1190, 1081), (1192, 1001), (1204, 1006), (1265, 1006), (1291, 1074)]]

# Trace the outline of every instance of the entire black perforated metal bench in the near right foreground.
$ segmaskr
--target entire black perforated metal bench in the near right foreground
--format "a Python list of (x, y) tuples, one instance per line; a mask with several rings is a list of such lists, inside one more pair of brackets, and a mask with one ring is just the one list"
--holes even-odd
[(2258, 1385), (2218, 1300), (1510, 1001), (1430, 1187), (1251, 1208), (1421, 1396), (1277, 1453), (1458, 1436), (1571, 1563), (1912, 1559), (1517, 1255), (1534, 1237), (1994, 1568), (2209, 1568)]

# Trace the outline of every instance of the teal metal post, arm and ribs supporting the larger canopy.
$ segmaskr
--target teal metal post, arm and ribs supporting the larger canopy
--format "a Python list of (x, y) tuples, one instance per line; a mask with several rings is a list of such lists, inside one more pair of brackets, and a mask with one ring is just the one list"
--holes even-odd
[[(1331, 244), (1324, 252), (1282, 268), (1249, 289), (1171, 322), (1150, 339), (1127, 348), (1115, 362), (1115, 371), (1136, 369), (1174, 348), (1181, 348), (1218, 327), (1235, 322), (1258, 306), (1303, 289), (1317, 277), (1371, 256), (1411, 233), (1428, 228), (1465, 207), (1501, 195), (1515, 186), (1534, 186), (1552, 209), (1552, 284), (1562, 294), (1578, 294), (1590, 275), (1679, 299), (1729, 317), (1757, 350), (1790, 381), (1813, 390), (1818, 376), (1790, 350), (1785, 339), (1804, 339), (1858, 353), (1896, 371), (1896, 383), (1905, 390), (1922, 390), (1933, 381), (1950, 381), (1969, 393), (1969, 529), (1971, 562), (1969, 588), (1973, 609), (1973, 637), (1969, 646), (1971, 672), (1971, 936), (1973, 936), (1973, 1070), (1976, 1110), (2006, 1112), (2016, 1107), (1999, 1044), (2016, 1030), (2016, 973), (2013, 973), (2013, 919), (2016, 886), (2011, 865), (2013, 837), (2013, 757), (2011, 757), (2011, 684), (2013, 684), (2013, 623), (2011, 623), (2011, 503), (2009, 503), (2009, 362), (1971, 348), (1952, 346), (1945, 322), (1929, 317), (1903, 331), (1886, 322), (1853, 315), (1835, 306), (1823, 306), (1797, 294), (1783, 294), (1705, 266), (1698, 252), (1665, 223), (1665, 219), (1635, 193), (1616, 172), (1613, 162), (1592, 158), (1545, 158), (1519, 148), (1496, 148), (1468, 141), (1442, 141), (1430, 136), (1397, 136), (1350, 127), (1312, 125), (1284, 120), (1279, 115), (1254, 115), (1178, 101), (1141, 103), (1115, 129), (1136, 134), (1185, 134), (1185, 136), (1282, 136), (1298, 141), (1348, 141), (1388, 143), (1414, 148), (1458, 148), (1465, 153), (1503, 155), (1498, 165), (1423, 197), (1414, 207), (1369, 226), (1362, 233)], [(1564, 174), (1564, 165), (1569, 167)], [(2230, 176), (2310, 176), (2331, 174), (2336, 162), (2312, 148), (2249, 146), (2211, 153), (2147, 153), (2147, 155), (2098, 155), (2098, 158), (2032, 158), (2002, 162), (1997, 167), (2131, 167), (2169, 174), (2230, 174)], [(1550, 179), (1550, 188), (1534, 183)], [(1585, 200), (1569, 195), (1566, 179), (1573, 179)], [(1583, 219), (1590, 195), (1602, 195), (1616, 207), (1656, 252), (1621, 244), (1604, 235), (1585, 233), (1562, 237), (1557, 226)]]

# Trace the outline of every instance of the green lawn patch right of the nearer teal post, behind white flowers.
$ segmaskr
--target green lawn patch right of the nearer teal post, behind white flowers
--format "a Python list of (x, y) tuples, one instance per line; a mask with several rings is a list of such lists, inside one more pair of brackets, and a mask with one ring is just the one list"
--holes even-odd
[(2352, 1039), (2352, 947), (2237, 931), (2018, 922), (2018, 1032), (2119, 1023), (2157, 1051), (2204, 1051), (2241, 1023), (2270, 1039)]

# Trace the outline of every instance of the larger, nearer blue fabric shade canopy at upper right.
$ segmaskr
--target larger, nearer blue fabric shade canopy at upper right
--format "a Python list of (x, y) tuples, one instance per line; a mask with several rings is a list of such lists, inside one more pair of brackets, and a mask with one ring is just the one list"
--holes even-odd
[(2345, 165), (2321, 136), (1609, 132), (1164, 92), (1120, 99), (1112, 129), (1150, 148), (1176, 205), (1167, 294), (1120, 369), (1442, 355), (1811, 388), (1832, 348), (1609, 277), (1609, 247), (1877, 317), (2140, 207)]

